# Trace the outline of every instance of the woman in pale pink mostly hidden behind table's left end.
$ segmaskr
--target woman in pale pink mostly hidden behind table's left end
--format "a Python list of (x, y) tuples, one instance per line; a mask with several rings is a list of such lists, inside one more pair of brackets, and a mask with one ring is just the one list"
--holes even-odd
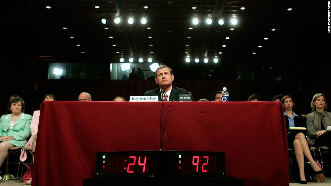
[[(44, 98), (41, 100), (43, 101), (56, 101), (56, 98), (51, 93), (46, 93), (44, 95)], [(41, 105), (41, 104), (40, 104)], [(37, 132), (38, 132), (38, 125), (39, 125), (39, 115), (40, 110), (36, 110), (33, 112), (30, 130), (31, 130), (31, 137), (29, 141), (26, 143), (25, 147), (32, 147), (32, 150), (35, 151), (36, 148), (36, 140), (37, 140)], [(26, 151), (23, 150), (21, 152), (20, 160), (24, 162), (26, 160)], [(32, 160), (34, 161), (34, 157), (32, 157)], [(26, 184), (31, 184), (31, 179), (26, 182)]]

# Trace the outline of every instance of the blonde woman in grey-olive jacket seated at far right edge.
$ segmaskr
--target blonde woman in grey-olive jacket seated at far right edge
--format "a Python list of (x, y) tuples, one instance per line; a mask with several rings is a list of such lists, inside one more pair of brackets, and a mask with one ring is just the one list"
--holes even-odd
[(321, 135), (331, 126), (331, 113), (325, 111), (328, 106), (325, 96), (322, 93), (316, 93), (310, 103), (312, 112), (307, 115), (308, 144), (314, 147), (327, 146), (331, 150), (331, 132)]

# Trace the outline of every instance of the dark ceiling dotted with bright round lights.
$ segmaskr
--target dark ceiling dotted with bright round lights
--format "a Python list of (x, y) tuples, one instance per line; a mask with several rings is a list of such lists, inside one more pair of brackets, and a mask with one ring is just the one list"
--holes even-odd
[[(153, 62), (175, 66), (185, 63), (187, 56), (189, 64), (199, 58), (200, 65), (289, 62), (319, 51), (316, 44), (330, 38), (327, 1), (8, 1), (0, 16), (4, 51), (10, 58), (49, 62), (119, 62), (122, 57), (127, 62), (133, 57), (139, 63), (141, 57), (148, 63), (151, 57)], [(114, 22), (117, 17), (119, 24)], [(143, 17), (146, 24), (140, 23)], [(108, 22), (103, 24), (102, 18)], [(128, 24), (128, 18), (134, 23)], [(199, 24), (194, 25), (193, 18)], [(212, 24), (206, 23), (207, 18)], [(232, 18), (238, 20), (236, 25), (230, 23)], [(213, 63), (215, 57), (218, 63)], [(204, 58), (209, 59), (207, 64)]]

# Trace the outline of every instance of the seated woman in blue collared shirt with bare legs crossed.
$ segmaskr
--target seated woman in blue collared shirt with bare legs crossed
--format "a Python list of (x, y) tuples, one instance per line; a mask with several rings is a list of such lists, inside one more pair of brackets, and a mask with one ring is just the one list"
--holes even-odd
[[(305, 120), (302, 116), (297, 115), (293, 109), (295, 109), (295, 102), (290, 95), (283, 96), (281, 100), (284, 107), (285, 121), (286, 127), (306, 127)], [(314, 171), (319, 173), (323, 173), (321, 168), (318, 167), (314, 159), (312, 158), (309, 150), (309, 146), (306, 140), (306, 135), (300, 130), (291, 130), (291, 132), (287, 135), (288, 148), (295, 150), (295, 156), (297, 158), (297, 162), (299, 165), (299, 173), (300, 173), (300, 183), (307, 184), (305, 177), (305, 161), (304, 155), (307, 157), (307, 160), (310, 162), (311, 167)]]

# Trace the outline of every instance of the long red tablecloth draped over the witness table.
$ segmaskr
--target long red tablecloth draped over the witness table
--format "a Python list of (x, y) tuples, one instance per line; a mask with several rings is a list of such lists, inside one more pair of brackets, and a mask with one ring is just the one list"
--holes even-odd
[[(96, 152), (158, 150), (162, 102), (42, 104), (33, 185), (82, 185)], [(168, 112), (165, 103), (163, 119)], [(288, 185), (286, 124), (279, 102), (173, 102), (163, 150), (225, 152), (226, 175), (246, 186)]]

